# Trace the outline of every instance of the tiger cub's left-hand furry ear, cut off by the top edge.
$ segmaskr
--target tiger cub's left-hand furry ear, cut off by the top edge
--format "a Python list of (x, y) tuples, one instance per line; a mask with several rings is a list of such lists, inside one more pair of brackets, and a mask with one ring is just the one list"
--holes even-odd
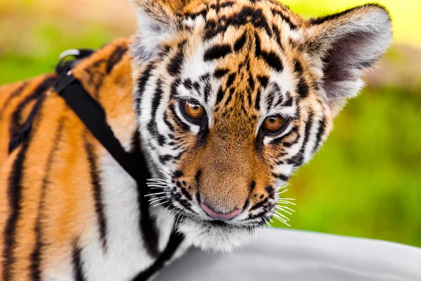
[(156, 55), (160, 41), (175, 30), (177, 13), (192, 0), (133, 0), (138, 7), (139, 31), (134, 46), (135, 58), (147, 61)]

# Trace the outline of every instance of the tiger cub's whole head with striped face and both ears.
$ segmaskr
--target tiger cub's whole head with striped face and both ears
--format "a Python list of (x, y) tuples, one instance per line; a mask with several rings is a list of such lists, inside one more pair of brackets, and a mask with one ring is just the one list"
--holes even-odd
[(272, 216), (286, 223), (282, 187), (391, 41), (385, 8), (303, 20), (271, 0), (135, 3), (135, 112), (152, 202), (203, 249), (231, 251)]

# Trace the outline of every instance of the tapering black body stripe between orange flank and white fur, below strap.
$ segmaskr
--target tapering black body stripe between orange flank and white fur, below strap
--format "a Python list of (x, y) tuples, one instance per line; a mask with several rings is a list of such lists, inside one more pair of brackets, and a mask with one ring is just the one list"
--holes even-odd
[(93, 145), (88, 141), (86, 133), (83, 133), (83, 141), (85, 142), (85, 152), (88, 157), (89, 174), (91, 175), (91, 185), (93, 192), (93, 199), (95, 201), (95, 212), (98, 220), (98, 228), (100, 230), (100, 240), (102, 242), (102, 249), (107, 249), (107, 220), (104, 214), (104, 203), (102, 202), (102, 187), (100, 183), (99, 169), (95, 161)]

